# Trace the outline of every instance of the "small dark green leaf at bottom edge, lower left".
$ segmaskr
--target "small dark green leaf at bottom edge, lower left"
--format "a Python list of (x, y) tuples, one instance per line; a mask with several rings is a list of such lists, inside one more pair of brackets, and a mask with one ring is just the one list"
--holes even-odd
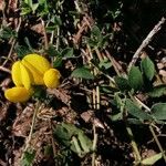
[(35, 157), (35, 152), (34, 151), (24, 152), (23, 158), (21, 160), (21, 166), (31, 166), (34, 157)]

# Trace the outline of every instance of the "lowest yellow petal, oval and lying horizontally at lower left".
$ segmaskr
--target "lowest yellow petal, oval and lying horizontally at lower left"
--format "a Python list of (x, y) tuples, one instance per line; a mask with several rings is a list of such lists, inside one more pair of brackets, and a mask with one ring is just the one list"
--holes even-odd
[(4, 92), (4, 96), (10, 102), (25, 102), (30, 98), (31, 92), (25, 87), (12, 87)]

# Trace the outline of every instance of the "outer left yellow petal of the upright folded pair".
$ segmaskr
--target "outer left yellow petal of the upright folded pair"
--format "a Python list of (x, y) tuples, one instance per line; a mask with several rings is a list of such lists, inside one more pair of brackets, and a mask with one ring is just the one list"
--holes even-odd
[(21, 61), (17, 61), (17, 62), (13, 63), (13, 65), (11, 68), (11, 77), (12, 77), (13, 83), (17, 86), (23, 85), (22, 80), (21, 80), (20, 64), (21, 64)]

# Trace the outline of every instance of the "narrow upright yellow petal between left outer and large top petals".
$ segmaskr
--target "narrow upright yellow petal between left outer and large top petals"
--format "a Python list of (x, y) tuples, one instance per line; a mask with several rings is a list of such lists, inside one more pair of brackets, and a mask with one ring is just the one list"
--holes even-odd
[(25, 66), (20, 63), (20, 69), (21, 69), (21, 81), (23, 86), (29, 90), (31, 87), (31, 83), (32, 83), (32, 75), (31, 73), (28, 71), (28, 69), (25, 69)]

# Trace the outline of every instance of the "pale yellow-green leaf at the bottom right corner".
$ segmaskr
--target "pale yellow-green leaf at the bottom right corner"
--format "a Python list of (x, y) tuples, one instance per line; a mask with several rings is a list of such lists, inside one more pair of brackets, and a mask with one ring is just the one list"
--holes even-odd
[(148, 158), (145, 158), (142, 160), (142, 164), (145, 165), (145, 166), (152, 166), (154, 165), (157, 160), (159, 160), (160, 158), (163, 157), (163, 154), (159, 153), (159, 154), (156, 154), (154, 156), (151, 156)]

